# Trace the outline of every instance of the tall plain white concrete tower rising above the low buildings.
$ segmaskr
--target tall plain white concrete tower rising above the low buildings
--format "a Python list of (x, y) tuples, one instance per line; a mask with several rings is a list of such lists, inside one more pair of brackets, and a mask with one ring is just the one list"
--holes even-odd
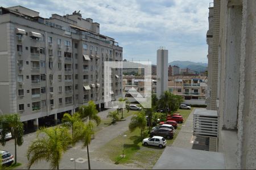
[(156, 96), (159, 98), (168, 89), (168, 50), (160, 48), (157, 51), (157, 87)]

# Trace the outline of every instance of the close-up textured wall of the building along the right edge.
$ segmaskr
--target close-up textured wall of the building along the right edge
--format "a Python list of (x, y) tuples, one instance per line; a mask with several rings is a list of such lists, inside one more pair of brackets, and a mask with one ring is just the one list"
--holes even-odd
[(209, 109), (217, 113), (217, 150), (228, 169), (256, 168), (255, 14), (249, 0), (214, 0), (209, 12)]

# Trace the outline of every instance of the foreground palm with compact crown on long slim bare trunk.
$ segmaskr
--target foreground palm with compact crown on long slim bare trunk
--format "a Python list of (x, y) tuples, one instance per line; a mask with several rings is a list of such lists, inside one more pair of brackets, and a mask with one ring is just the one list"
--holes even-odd
[(88, 122), (87, 124), (84, 124), (84, 122), (75, 122), (75, 141), (82, 141), (82, 148), (86, 147), (87, 150), (87, 158), (88, 158), (88, 169), (90, 169), (90, 156), (89, 156), (89, 145), (92, 141), (92, 135), (94, 134), (94, 131), (92, 129), (93, 124), (92, 122)]

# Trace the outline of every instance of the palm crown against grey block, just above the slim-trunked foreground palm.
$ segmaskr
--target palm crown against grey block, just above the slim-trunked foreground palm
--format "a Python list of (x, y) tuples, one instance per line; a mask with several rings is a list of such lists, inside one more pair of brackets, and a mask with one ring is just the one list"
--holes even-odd
[(82, 105), (79, 108), (81, 117), (89, 118), (89, 122), (96, 122), (97, 126), (101, 123), (101, 118), (97, 115), (96, 104), (92, 100), (88, 102), (88, 105)]

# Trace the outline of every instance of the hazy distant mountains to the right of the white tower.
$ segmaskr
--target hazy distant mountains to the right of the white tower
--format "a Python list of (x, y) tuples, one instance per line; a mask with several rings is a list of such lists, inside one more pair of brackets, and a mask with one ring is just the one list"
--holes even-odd
[(181, 69), (188, 68), (193, 71), (196, 71), (197, 73), (207, 70), (207, 67), (208, 67), (207, 63), (192, 62), (192, 61), (172, 61), (168, 63), (168, 65), (171, 65), (171, 66), (176, 65), (176, 66), (179, 66)]

